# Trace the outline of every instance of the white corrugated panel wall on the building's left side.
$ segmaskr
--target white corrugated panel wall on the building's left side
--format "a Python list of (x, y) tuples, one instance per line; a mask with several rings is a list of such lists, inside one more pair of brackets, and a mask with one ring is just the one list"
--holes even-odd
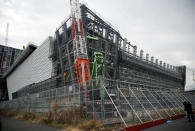
[(7, 77), (9, 99), (22, 87), (51, 77), (52, 62), (48, 59), (52, 37), (46, 39), (21, 65)]

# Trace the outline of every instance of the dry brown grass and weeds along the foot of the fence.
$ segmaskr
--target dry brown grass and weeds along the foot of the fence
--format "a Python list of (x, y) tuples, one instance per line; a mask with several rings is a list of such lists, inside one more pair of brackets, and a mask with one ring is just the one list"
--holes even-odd
[(82, 106), (75, 106), (67, 108), (65, 111), (59, 111), (58, 105), (55, 104), (48, 112), (42, 114), (32, 112), (14, 113), (8, 109), (0, 109), (0, 116), (60, 127), (64, 128), (63, 131), (111, 131), (111, 129), (106, 128), (100, 121), (86, 121), (85, 109)]

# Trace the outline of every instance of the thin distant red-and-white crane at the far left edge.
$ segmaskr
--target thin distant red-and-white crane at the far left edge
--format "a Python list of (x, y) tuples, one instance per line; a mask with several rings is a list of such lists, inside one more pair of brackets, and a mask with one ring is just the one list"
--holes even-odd
[(5, 47), (4, 47), (4, 51), (3, 51), (3, 65), (2, 65), (2, 68), (1, 68), (1, 73), (2, 74), (4, 74), (6, 72), (8, 32), (9, 32), (9, 24), (7, 23), (6, 37), (5, 37)]

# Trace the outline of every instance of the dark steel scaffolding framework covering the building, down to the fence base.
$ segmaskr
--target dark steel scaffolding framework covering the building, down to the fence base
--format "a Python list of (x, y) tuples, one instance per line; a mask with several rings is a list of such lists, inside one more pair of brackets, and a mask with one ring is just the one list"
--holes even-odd
[[(103, 81), (97, 84), (99, 79), (92, 79), (87, 81), (91, 84), (80, 88), (74, 63), (72, 18), (68, 17), (50, 45), (52, 78), (23, 87), (13, 94), (12, 101), (1, 103), (1, 108), (46, 112), (56, 103), (60, 110), (85, 105), (86, 119), (129, 126), (184, 114), (184, 101), (195, 104), (193, 95), (178, 90), (185, 86), (185, 66), (166, 66), (158, 60), (154, 63), (154, 57), (149, 60), (146, 54), (144, 58), (143, 51), (138, 56), (136, 46), (85, 5), (81, 5), (81, 16), (89, 70), (92, 72), (95, 61), (93, 54), (100, 52), (104, 57)], [(84, 99), (86, 96), (88, 99)]]

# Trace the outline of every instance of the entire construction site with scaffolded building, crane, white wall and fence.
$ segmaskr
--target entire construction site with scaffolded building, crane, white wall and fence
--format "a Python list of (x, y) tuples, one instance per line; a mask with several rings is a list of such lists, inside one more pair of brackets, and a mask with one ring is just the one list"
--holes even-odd
[(9, 101), (1, 108), (43, 113), (55, 104), (61, 111), (84, 106), (85, 119), (106, 125), (168, 119), (185, 113), (184, 101), (195, 104), (184, 92), (185, 65), (144, 54), (77, 0), (55, 36), (39, 47), (29, 44), (3, 79)]

